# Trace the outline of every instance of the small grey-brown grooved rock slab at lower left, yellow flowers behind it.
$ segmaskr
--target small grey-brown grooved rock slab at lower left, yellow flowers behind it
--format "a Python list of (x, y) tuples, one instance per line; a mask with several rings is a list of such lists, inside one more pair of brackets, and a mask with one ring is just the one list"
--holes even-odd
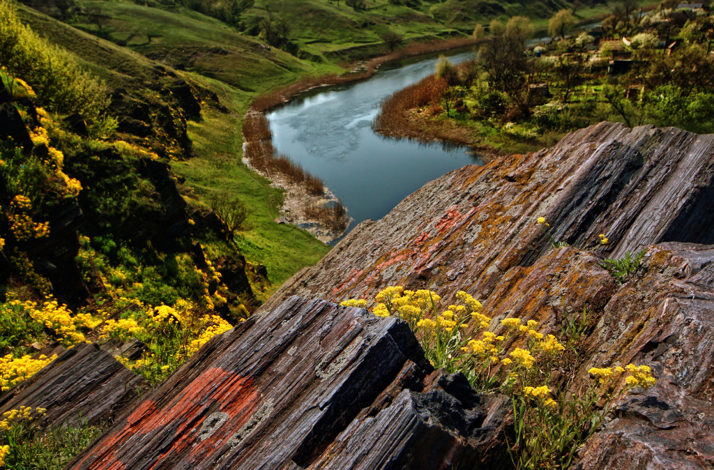
[(30, 379), (0, 395), (0, 414), (19, 406), (45, 408), (44, 426), (80, 421), (91, 426), (113, 419), (124, 406), (147, 389), (143, 377), (122, 366), (96, 344), (81, 343)]

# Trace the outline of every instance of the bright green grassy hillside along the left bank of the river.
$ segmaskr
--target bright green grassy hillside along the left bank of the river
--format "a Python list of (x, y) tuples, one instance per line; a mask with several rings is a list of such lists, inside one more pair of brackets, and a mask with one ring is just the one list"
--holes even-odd
[[(33, 9), (21, 7), (21, 16), (33, 29), (42, 31), (54, 43), (74, 51), (109, 86), (126, 89), (129, 94), (144, 101), (160, 99), (159, 86), (168, 86), (177, 78), (186, 79), (216, 94), (225, 109), (219, 111), (216, 106), (206, 103), (202, 106), (201, 116), (187, 123), (188, 136), (193, 141), (196, 156), (171, 163), (176, 174), (186, 177), (186, 199), (197, 207), (206, 207), (211, 194), (217, 191), (238, 195), (250, 213), (246, 230), (238, 234), (236, 242), (248, 261), (266, 265), (274, 286), (301, 267), (316, 263), (329, 247), (306, 231), (273, 221), (282, 204), (281, 191), (271, 187), (266, 179), (241, 163), (240, 129), (242, 116), (258, 92), (336, 67), (320, 68), (280, 50), (266, 51), (257, 46), (256, 40), (235, 31), (231, 35), (228, 26), (192, 11), (183, 11), (184, 15), (134, 4), (93, 3), (106, 7), (106, 11), (113, 9), (113, 14), (121, 18), (104, 26), (106, 29), (124, 31), (122, 28), (129, 29), (132, 24), (136, 27), (146, 25), (149, 31), (154, 31), (151, 27), (155, 27), (156, 31), (171, 32), (171, 36), (164, 36), (161, 40), (154, 37), (151, 44), (144, 46), (139, 41), (139, 46), (129, 48), (80, 31)], [(166, 28), (166, 24), (174, 27)], [(223, 74), (225, 81), (193, 71), (165, 69), (159, 61), (140, 54), (161, 56), (171, 51), (195, 52), (211, 47), (224, 48), (223, 51), (228, 53), (195, 54), (195, 67), (200, 69), (203, 64), (211, 64), (215, 60), (216, 66), (211, 70), (226, 71)], [(188, 52), (183, 57), (186, 56)], [(256, 294), (261, 296), (259, 292)], [(267, 294), (269, 291), (262, 295)]]

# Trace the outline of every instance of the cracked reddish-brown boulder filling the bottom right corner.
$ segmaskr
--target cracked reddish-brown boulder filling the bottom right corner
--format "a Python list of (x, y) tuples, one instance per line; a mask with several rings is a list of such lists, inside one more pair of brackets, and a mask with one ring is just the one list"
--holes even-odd
[(644, 266), (605, 306), (580, 378), (631, 361), (657, 383), (620, 400), (576, 469), (714, 467), (714, 245), (654, 246)]

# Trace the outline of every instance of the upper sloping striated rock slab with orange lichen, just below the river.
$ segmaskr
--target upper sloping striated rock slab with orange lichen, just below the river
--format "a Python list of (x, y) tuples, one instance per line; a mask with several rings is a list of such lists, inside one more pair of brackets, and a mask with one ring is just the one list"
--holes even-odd
[(316, 266), (286, 282), (288, 295), (331, 300), (383, 286), (431, 285), (489, 298), (504, 274), (558, 241), (620, 258), (660, 241), (714, 243), (714, 135), (601, 123), (527, 156), (466, 166), (432, 181), (380, 221), (360, 224)]

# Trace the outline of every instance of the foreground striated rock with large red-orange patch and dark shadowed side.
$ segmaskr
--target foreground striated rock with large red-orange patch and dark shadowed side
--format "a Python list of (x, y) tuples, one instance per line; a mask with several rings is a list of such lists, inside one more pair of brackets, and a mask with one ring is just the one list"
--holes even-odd
[(402, 321), (292, 297), (211, 340), (67, 468), (508, 468), (509, 409), (433, 372)]

